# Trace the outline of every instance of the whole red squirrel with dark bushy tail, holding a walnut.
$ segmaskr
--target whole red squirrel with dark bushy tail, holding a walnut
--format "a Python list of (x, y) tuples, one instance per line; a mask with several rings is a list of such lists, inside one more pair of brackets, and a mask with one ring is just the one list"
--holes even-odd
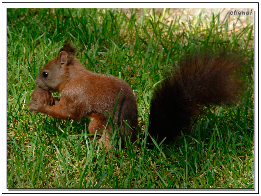
[[(119, 127), (120, 136), (130, 136), (135, 143), (137, 103), (130, 85), (120, 78), (88, 71), (75, 58), (75, 53), (71, 44), (65, 44), (35, 79), (41, 89), (60, 91), (60, 99), (54, 100), (54, 105), (33, 100), (29, 108), (65, 120), (88, 117), (91, 139), (97, 131), (107, 149), (110, 139), (104, 129), (112, 135), (112, 127), (106, 127), (108, 111), (110, 117), (114, 114), (113, 126)], [(170, 140), (191, 125), (204, 107), (236, 103), (242, 91), (242, 80), (238, 77), (241, 68), (240, 58), (226, 52), (186, 55), (153, 92), (149, 134), (158, 141), (164, 137)]]

